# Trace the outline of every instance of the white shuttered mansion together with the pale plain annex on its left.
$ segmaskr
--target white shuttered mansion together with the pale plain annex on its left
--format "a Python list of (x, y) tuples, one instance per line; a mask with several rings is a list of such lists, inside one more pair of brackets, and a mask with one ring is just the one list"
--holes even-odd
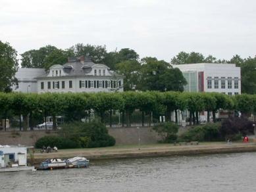
[(36, 93), (80, 93), (123, 91), (125, 76), (111, 72), (104, 64), (95, 64), (87, 57), (70, 57), (66, 64), (43, 69), (19, 68), (16, 72), (18, 89)]

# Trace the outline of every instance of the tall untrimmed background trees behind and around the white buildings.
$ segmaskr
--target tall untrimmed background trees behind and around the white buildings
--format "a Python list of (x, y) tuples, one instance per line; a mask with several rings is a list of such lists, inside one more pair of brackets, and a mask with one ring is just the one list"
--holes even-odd
[[(230, 60), (216, 59), (212, 55), (204, 57), (201, 53), (180, 52), (170, 59), (157, 60), (155, 57), (140, 59), (140, 55), (133, 49), (124, 48), (117, 51), (107, 51), (105, 45), (84, 45), (78, 43), (67, 49), (58, 49), (47, 45), (39, 49), (32, 49), (20, 54), (22, 68), (45, 68), (48, 70), (53, 64), (65, 64), (68, 57), (90, 57), (95, 63), (109, 66), (118, 74), (126, 76), (124, 91), (183, 91), (186, 80), (175, 64), (192, 64), (200, 62), (234, 63), (241, 67), (242, 93), (256, 93), (256, 57), (242, 59), (235, 55)], [(11, 84), (15, 83), (14, 73), (18, 67), (17, 53), (9, 43), (0, 41), (0, 91), (11, 91)]]

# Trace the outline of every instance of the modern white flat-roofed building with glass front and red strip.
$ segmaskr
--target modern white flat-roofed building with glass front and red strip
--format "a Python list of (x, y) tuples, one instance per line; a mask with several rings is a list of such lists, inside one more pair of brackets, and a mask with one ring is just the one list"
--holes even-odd
[(179, 68), (186, 78), (185, 91), (241, 94), (241, 73), (236, 64), (197, 63), (173, 67)]

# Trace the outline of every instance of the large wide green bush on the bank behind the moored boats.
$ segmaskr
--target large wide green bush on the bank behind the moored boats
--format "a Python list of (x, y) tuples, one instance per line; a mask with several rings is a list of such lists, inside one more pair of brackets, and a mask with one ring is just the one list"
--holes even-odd
[(36, 148), (43, 145), (58, 149), (108, 147), (116, 144), (114, 137), (108, 134), (104, 124), (97, 120), (91, 122), (72, 122), (63, 124), (59, 136), (45, 136), (36, 141)]

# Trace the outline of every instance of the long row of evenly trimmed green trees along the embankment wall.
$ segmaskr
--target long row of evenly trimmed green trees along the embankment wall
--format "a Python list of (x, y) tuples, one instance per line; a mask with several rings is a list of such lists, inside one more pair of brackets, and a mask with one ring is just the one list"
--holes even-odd
[[(64, 115), (70, 121), (80, 121), (84, 112), (91, 109), (105, 122), (105, 112), (112, 110), (122, 112), (122, 126), (130, 126), (130, 114), (134, 110), (140, 110), (141, 123), (144, 125), (145, 114), (149, 119), (166, 116), (170, 121), (172, 112), (186, 110), (190, 112), (190, 125), (199, 124), (199, 112), (207, 111), (207, 121), (210, 112), (215, 113), (218, 109), (238, 110), (245, 113), (253, 113), (256, 109), (256, 95), (228, 96), (222, 93), (181, 93), (175, 91), (126, 91), (122, 93), (0, 93), (1, 116), (4, 119), (13, 114), (23, 116), (24, 130), (27, 129), (27, 116), (41, 114), (44, 118), (53, 116), (53, 129), (56, 130), (56, 116)], [(153, 114), (153, 116), (151, 116)], [(20, 121), (21, 122), (21, 121)], [(46, 122), (46, 120), (45, 120)], [(110, 121), (110, 125), (112, 122)], [(20, 124), (21, 129), (21, 124)]]

